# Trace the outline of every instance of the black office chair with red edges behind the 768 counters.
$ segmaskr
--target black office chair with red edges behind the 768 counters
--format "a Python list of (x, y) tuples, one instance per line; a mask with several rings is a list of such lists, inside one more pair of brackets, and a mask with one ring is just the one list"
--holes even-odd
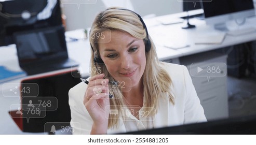
[[(45, 132), (47, 131), (45, 130), (47, 122), (69, 124), (71, 113), (68, 93), (73, 86), (80, 82), (80, 76), (72, 74), (78, 74), (77, 69), (33, 76), (21, 81), (20, 95), (23, 114), (17, 114), (17, 110), (9, 113), (23, 132)], [(30, 104), (30, 100), (33, 100), (31, 102), (34, 105), (33, 108), (26, 107)], [(42, 106), (45, 108), (42, 109)], [(61, 128), (56, 126), (57, 129)]]

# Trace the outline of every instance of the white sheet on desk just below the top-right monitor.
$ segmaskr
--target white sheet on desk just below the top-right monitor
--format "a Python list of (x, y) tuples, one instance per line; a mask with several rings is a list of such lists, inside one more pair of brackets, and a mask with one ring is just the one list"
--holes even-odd
[(221, 44), (226, 36), (226, 33), (211, 33), (211, 34), (201, 34), (197, 35), (194, 39), (195, 45), (200, 44)]

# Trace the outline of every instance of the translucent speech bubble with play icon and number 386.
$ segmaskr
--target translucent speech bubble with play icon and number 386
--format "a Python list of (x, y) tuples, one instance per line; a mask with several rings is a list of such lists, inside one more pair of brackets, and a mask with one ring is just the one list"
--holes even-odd
[(225, 63), (192, 63), (190, 73), (193, 77), (225, 77), (227, 66)]

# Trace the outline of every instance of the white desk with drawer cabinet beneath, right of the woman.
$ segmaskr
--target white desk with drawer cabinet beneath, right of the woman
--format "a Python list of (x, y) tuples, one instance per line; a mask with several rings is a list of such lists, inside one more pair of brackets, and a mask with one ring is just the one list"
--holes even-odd
[[(156, 44), (156, 48), (163, 48), (163, 44), (173, 41), (174, 43), (185, 43), (189, 47), (172, 49), (174, 53), (170, 53), (168, 57), (159, 57), (161, 61), (169, 61), (187, 66), (188, 70), (192, 63), (225, 63), (225, 56), (210, 56), (209, 51), (225, 48), (244, 42), (256, 40), (256, 32), (248, 33), (240, 36), (226, 35), (224, 41), (218, 45), (195, 45), (195, 40), (198, 35), (207, 37), (213, 33), (218, 34), (219, 31), (214, 30), (212, 26), (206, 25), (205, 21), (199, 19), (190, 19), (191, 24), (195, 24), (196, 28), (184, 30), (181, 28), (181, 23), (171, 25), (161, 25), (157, 19), (171, 19), (173, 15), (162, 16), (145, 20), (149, 24), (147, 29), (149, 34)], [(256, 18), (247, 19), (246, 24), (242, 27), (255, 27)], [(151, 25), (154, 24), (154, 25)], [(161, 47), (160, 47), (161, 46)], [(226, 68), (221, 68), (226, 70)], [(225, 77), (213, 77), (207, 81), (206, 77), (192, 76), (192, 80), (197, 91), (197, 95), (205, 109), (205, 114), (208, 120), (215, 120), (228, 117), (228, 96), (227, 96), (227, 80)]]

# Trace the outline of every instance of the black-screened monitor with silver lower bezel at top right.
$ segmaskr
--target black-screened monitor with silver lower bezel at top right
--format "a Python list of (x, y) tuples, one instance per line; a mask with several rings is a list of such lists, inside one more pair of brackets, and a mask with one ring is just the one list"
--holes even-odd
[(214, 25), (218, 30), (226, 30), (225, 22), (254, 16), (253, 0), (212, 0), (204, 2), (203, 9), (206, 24)]

